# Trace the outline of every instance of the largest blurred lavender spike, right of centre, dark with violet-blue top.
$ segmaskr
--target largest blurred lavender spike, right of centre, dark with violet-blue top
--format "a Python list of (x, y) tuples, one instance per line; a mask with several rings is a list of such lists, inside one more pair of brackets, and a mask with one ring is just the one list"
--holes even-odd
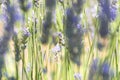
[(82, 50), (82, 27), (79, 24), (80, 18), (75, 15), (72, 8), (66, 12), (65, 33), (67, 37), (67, 47), (70, 52), (70, 59), (77, 65), (80, 65), (80, 54)]

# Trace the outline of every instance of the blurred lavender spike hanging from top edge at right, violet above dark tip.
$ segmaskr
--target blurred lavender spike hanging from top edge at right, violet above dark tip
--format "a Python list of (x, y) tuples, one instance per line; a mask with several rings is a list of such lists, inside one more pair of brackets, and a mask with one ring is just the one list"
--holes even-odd
[(99, 33), (102, 38), (108, 35), (108, 26), (110, 19), (110, 2), (109, 0), (99, 0), (101, 11), (99, 12)]

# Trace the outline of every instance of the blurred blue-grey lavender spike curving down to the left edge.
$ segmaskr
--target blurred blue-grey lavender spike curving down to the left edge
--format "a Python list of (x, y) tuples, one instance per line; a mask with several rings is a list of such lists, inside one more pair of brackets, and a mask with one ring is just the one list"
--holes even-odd
[(6, 24), (4, 26), (4, 33), (3, 33), (3, 37), (1, 37), (0, 39), (0, 54), (4, 54), (7, 50), (7, 45), (8, 42), (10, 40), (10, 38), (12, 37), (13, 34), (13, 27), (14, 27), (14, 23), (15, 23), (15, 19), (14, 19), (14, 7), (10, 6), (9, 4), (6, 5), (7, 6), (7, 16), (9, 16), (9, 18), (7, 17)]

